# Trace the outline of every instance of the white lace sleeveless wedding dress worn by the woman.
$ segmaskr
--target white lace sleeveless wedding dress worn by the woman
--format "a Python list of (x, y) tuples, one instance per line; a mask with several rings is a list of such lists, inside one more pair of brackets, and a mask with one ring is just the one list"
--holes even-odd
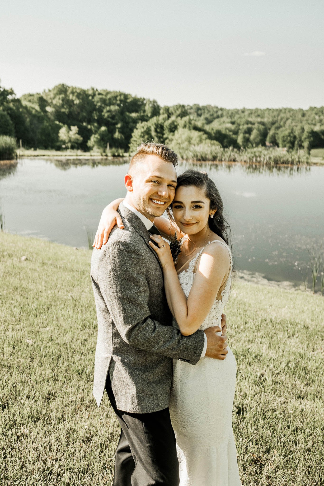
[[(220, 326), (231, 290), (230, 272), (222, 299), (215, 300), (204, 323)], [(204, 248), (179, 273), (181, 287), (188, 297), (197, 260)], [(221, 334), (221, 333), (220, 333)], [(240, 486), (236, 447), (232, 432), (232, 409), (236, 382), (236, 361), (230, 349), (225, 360), (201, 358), (193, 366), (173, 360), (170, 415), (177, 441), (180, 486)]]

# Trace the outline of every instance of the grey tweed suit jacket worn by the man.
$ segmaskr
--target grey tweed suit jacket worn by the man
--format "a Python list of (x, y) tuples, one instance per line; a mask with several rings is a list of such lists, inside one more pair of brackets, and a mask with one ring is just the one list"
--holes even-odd
[(109, 372), (117, 408), (149, 413), (169, 406), (172, 358), (196, 364), (204, 333), (172, 327), (163, 272), (142, 221), (123, 205), (115, 226), (93, 250), (91, 279), (98, 317), (93, 395), (100, 406)]

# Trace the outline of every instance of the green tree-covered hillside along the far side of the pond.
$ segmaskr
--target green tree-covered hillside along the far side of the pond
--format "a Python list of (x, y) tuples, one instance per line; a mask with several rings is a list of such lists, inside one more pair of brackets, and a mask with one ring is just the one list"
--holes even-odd
[[(198, 104), (160, 106), (119, 91), (57, 85), (17, 98), (0, 86), (0, 135), (25, 148), (71, 148), (134, 152), (142, 140), (192, 146), (247, 149), (324, 147), (324, 106), (307, 110), (226, 109)], [(179, 150), (180, 149), (180, 150)]]

